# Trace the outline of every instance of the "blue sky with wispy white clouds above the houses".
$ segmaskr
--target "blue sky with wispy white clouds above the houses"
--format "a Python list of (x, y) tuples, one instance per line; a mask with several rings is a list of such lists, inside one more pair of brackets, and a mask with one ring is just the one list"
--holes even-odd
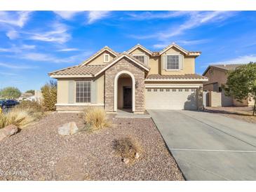
[(103, 46), (123, 52), (177, 43), (208, 64), (256, 62), (255, 11), (0, 11), (0, 88), (39, 89), (48, 72)]

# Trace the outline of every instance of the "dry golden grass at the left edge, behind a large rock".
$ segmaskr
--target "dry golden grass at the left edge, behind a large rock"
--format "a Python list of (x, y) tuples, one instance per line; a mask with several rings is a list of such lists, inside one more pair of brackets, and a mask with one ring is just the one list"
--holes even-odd
[(18, 128), (24, 128), (33, 121), (35, 121), (35, 118), (29, 114), (28, 109), (13, 108), (6, 114), (0, 114), (0, 128), (5, 128), (7, 125), (16, 125)]

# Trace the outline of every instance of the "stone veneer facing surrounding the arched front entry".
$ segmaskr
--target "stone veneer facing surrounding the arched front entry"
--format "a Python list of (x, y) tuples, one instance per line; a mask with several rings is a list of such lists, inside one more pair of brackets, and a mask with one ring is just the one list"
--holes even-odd
[(105, 109), (114, 111), (114, 78), (120, 71), (130, 71), (135, 77), (135, 112), (144, 112), (144, 69), (127, 58), (116, 62), (105, 71)]

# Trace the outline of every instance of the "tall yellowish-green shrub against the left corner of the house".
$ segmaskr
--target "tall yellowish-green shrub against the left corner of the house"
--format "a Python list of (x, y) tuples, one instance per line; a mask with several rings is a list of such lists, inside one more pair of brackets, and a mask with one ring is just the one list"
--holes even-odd
[(57, 103), (57, 82), (50, 81), (43, 85), (41, 88), (41, 92), (43, 95), (43, 109), (45, 111), (55, 111), (55, 104)]

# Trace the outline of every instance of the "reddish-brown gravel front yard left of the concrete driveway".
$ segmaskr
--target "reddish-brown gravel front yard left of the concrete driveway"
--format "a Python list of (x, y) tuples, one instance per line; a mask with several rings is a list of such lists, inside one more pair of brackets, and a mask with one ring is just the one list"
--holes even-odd
[[(184, 180), (151, 118), (114, 118), (112, 128), (60, 136), (58, 127), (79, 114), (50, 114), (0, 142), (0, 180)], [(114, 139), (133, 137), (142, 154), (126, 165)]]

